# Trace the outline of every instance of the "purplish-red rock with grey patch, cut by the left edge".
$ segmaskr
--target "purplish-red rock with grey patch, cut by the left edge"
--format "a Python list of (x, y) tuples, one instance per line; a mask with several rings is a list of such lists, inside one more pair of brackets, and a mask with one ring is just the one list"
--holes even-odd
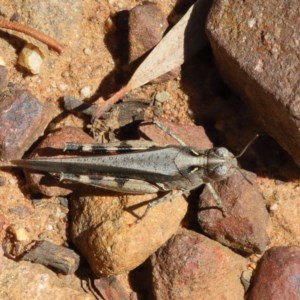
[(56, 114), (52, 104), (40, 103), (27, 90), (0, 94), (0, 159), (21, 158)]

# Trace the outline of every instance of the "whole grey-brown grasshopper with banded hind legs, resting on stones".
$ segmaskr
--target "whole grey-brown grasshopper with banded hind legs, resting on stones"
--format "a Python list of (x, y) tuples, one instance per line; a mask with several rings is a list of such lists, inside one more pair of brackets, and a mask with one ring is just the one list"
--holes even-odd
[[(246, 151), (253, 140), (240, 155), (234, 156), (224, 147), (209, 150), (188, 147), (161, 123), (154, 123), (176, 139), (180, 146), (162, 147), (151, 141), (66, 143), (64, 151), (92, 152), (94, 155), (21, 159), (12, 163), (30, 170), (59, 174), (61, 181), (78, 182), (116, 192), (167, 193), (162, 198), (150, 200), (147, 209), (179, 195), (187, 195), (196, 187), (206, 184), (217, 206), (223, 210), (222, 201), (211, 183), (226, 179), (238, 169), (237, 157)], [(177, 192), (172, 194), (174, 190)]]

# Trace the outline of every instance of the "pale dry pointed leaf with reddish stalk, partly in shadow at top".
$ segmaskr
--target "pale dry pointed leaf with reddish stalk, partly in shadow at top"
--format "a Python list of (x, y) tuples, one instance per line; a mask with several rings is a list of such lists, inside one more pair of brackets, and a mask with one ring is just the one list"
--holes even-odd
[(205, 21), (210, 5), (211, 0), (198, 0), (192, 5), (141, 63), (127, 85), (100, 106), (93, 118), (99, 118), (125, 93), (182, 65), (203, 48), (207, 44)]

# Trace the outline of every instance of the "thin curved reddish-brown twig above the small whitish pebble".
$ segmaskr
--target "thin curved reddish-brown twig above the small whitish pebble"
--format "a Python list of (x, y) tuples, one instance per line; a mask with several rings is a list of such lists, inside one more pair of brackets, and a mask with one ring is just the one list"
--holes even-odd
[(31, 27), (28, 27), (24, 24), (0, 19), (0, 28), (11, 29), (11, 30), (25, 33), (25, 34), (32, 36), (33, 38), (41, 41), (42, 43), (46, 44), (48, 47), (54, 49), (59, 54), (61, 54), (63, 52), (63, 46), (60, 45), (57, 41), (55, 41), (51, 37), (47, 36), (46, 34), (40, 32), (36, 29), (33, 29)]

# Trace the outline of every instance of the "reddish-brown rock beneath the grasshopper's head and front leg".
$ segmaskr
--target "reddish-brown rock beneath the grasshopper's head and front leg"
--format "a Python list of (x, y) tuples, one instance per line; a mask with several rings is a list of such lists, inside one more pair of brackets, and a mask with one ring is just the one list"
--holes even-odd
[(255, 175), (245, 171), (243, 174), (235, 172), (228, 179), (213, 184), (222, 199), (225, 216), (216, 208), (208, 188), (204, 188), (200, 196), (198, 222), (207, 235), (230, 248), (261, 253), (269, 241), (268, 212), (257, 190)]

